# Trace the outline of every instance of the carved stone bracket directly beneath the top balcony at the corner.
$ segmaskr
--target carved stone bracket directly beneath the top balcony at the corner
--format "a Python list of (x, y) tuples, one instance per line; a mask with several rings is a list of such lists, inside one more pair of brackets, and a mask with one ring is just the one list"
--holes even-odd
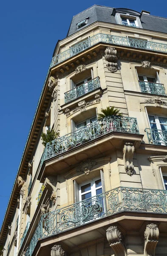
[(105, 49), (105, 60), (106, 60), (106, 67), (110, 70), (111, 73), (114, 73), (118, 70), (118, 65), (116, 61), (118, 60), (117, 51), (114, 47), (106, 47)]

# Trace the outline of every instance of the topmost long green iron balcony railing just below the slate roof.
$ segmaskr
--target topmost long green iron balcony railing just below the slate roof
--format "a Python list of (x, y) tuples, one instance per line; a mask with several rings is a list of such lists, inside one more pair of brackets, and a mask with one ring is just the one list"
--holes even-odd
[(74, 45), (68, 50), (54, 56), (50, 64), (50, 68), (56, 66), (62, 61), (67, 60), (68, 58), (71, 58), (72, 56), (78, 54), (79, 52), (83, 52), (85, 49), (88, 49), (98, 43), (121, 45), (126, 47), (147, 49), (150, 51), (167, 53), (167, 44), (150, 42), (147, 40), (136, 39), (136, 38), (126, 38), (126, 37), (117, 36), (117, 35), (107, 35), (107, 34), (99, 33), (97, 35), (92, 36), (91, 38), (86, 39), (85, 41), (82, 41)]

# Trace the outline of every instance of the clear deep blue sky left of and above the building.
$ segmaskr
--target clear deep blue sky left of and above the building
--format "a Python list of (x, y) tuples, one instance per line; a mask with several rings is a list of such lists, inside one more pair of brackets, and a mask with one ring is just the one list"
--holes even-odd
[(57, 41), (74, 15), (93, 4), (167, 17), (167, 2), (3, 1), (0, 8), (0, 226)]

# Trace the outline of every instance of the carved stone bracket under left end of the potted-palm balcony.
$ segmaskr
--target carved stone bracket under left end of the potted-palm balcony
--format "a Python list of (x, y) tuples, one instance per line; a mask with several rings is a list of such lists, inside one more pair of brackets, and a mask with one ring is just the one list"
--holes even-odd
[(51, 192), (51, 201), (53, 204), (56, 203), (56, 177), (48, 176), (45, 178), (44, 186)]

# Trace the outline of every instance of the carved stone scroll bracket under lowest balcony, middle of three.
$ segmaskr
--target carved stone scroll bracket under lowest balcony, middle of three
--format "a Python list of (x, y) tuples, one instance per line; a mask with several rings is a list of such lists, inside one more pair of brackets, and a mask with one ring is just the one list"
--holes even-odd
[(110, 244), (110, 247), (113, 249), (115, 256), (126, 256), (126, 250), (123, 244), (122, 233), (118, 230), (118, 227), (111, 226), (107, 230), (106, 236)]

